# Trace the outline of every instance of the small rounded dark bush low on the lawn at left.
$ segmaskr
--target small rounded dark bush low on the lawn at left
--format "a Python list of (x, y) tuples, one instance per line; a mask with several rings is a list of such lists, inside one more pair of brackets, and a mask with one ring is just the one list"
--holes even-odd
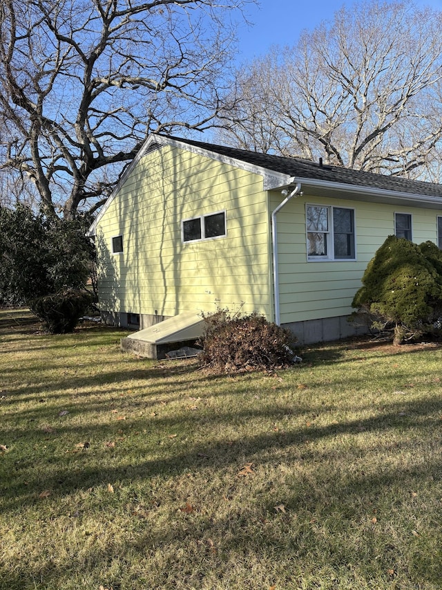
[(31, 311), (44, 321), (50, 333), (64, 334), (73, 331), (92, 300), (93, 295), (88, 291), (68, 289), (55, 295), (32, 299), (29, 306)]

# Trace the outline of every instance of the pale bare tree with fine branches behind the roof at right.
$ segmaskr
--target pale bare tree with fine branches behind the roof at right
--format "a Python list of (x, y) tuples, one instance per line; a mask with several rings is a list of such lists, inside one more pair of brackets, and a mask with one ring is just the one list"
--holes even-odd
[(273, 48), (239, 71), (224, 140), (436, 180), (441, 25), (441, 12), (407, 1), (341, 8), (294, 48)]

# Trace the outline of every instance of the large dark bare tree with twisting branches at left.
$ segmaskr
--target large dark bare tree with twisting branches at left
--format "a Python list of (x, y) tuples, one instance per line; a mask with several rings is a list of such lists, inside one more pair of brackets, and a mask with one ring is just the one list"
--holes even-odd
[(97, 209), (149, 131), (210, 125), (249, 1), (2, 0), (0, 168)]

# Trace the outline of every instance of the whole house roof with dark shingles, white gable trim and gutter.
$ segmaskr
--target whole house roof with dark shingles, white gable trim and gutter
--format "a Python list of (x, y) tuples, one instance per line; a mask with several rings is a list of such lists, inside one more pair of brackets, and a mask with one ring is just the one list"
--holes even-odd
[(320, 165), (320, 163), (304, 158), (260, 154), (247, 149), (151, 133), (132, 163), (122, 174), (111, 196), (90, 226), (89, 236), (95, 234), (99, 219), (115, 199), (119, 188), (126, 181), (128, 174), (131, 174), (137, 162), (162, 145), (193, 151), (202, 156), (260, 174), (263, 178), (263, 190), (280, 190), (289, 185), (300, 183), (303, 192), (306, 194), (309, 192), (309, 194), (316, 196), (337, 198), (345, 196), (347, 199), (357, 201), (391, 203), (411, 207), (422, 206), (442, 211), (442, 185), (439, 184), (411, 181), (399, 176), (374, 174), (373, 172), (338, 166)]

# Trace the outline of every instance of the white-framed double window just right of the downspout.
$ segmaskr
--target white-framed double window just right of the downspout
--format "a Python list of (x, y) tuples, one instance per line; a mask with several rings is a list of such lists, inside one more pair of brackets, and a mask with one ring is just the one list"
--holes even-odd
[(354, 210), (307, 205), (307, 258), (354, 260)]

